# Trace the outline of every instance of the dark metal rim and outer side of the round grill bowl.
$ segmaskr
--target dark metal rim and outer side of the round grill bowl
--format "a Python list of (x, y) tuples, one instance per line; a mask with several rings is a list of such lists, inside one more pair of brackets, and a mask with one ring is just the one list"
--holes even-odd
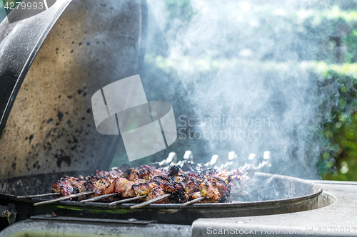
[[(76, 173), (78, 175), (78, 172)], [(44, 174), (42, 174), (44, 175)], [(56, 175), (63, 176), (64, 173), (57, 174), (46, 174), (47, 181), (54, 181), (54, 177), (58, 178)], [(46, 204), (41, 206), (34, 206), (35, 201), (43, 201), (44, 199), (17, 199), (14, 191), (19, 191), (19, 184), (26, 186), (26, 184), (31, 184), (30, 177), (22, 177), (21, 179), (27, 179), (21, 183), (19, 177), (14, 178), (12, 184), (15, 185), (12, 188), (11, 194), (4, 194), (1, 192), (6, 192), (9, 185), (1, 185), (5, 180), (0, 180), (0, 201), (4, 204), (14, 204), (19, 213), (16, 217), (16, 221), (23, 221), (31, 216), (36, 216), (39, 214), (51, 214), (54, 212), (57, 216), (73, 216), (73, 217), (86, 217), (86, 218), (114, 218), (114, 219), (128, 219), (136, 218), (143, 221), (156, 221), (157, 223), (169, 223), (169, 224), (187, 224), (191, 225), (193, 221), (198, 218), (227, 218), (227, 217), (238, 217), (238, 216), (261, 216), (261, 215), (273, 215), (273, 214), (287, 214), (298, 211), (308, 211), (313, 209), (318, 209), (318, 203), (323, 195), (318, 196), (321, 192), (321, 188), (314, 184), (313, 181), (298, 179), (295, 177), (283, 177), (277, 174), (266, 174), (266, 173), (256, 173), (257, 176), (262, 175), (263, 177), (277, 177), (277, 181), (274, 181), (275, 185), (281, 182), (281, 178), (286, 181), (291, 179), (295, 181), (295, 184), (286, 184), (284, 181), (281, 183), (289, 191), (291, 186), (296, 190), (301, 190), (301, 188), (306, 186), (301, 186), (300, 182), (307, 184), (309, 186), (306, 189), (311, 191), (310, 196), (302, 195), (292, 199), (276, 199), (274, 201), (251, 201), (251, 202), (233, 202), (233, 203), (223, 203), (223, 204), (193, 204), (190, 206), (183, 206), (182, 204), (151, 204), (141, 209), (130, 209), (131, 205), (134, 204), (121, 204), (117, 206), (109, 206), (100, 203), (81, 203), (79, 201), (61, 201), (53, 204)], [(33, 175), (39, 178), (39, 175)], [(33, 177), (33, 178), (34, 178)], [(42, 179), (39, 181), (46, 181)], [(253, 179), (252, 179), (253, 180)], [(9, 181), (9, 179), (8, 179)], [(298, 181), (298, 183), (296, 182)], [(16, 184), (18, 186), (16, 186)], [(43, 188), (49, 188), (49, 184), (39, 183), (41, 190)], [(39, 185), (37, 184), (37, 185)], [(286, 185), (285, 185), (286, 184)], [(31, 188), (31, 186), (26, 186), (26, 188)], [(261, 186), (257, 186), (260, 188)], [(314, 189), (311, 189), (314, 187)], [(31, 192), (33, 189), (23, 189)], [(306, 190), (306, 191), (308, 191)], [(293, 194), (288, 192), (288, 194)], [(301, 192), (300, 194), (306, 194), (306, 192)], [(49, 200), (49, 199), (46, 199)], [(182, 205), (182, 206), (181, 206)]]

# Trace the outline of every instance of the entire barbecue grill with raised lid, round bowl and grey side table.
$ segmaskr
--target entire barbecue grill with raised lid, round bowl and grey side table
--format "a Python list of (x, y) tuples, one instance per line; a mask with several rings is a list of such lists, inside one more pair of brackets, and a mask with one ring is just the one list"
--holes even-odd
[[(11, 19), (24, 11), (12, 11)], [(140, 73), (146, 23), (145, 1), (62, 0), (29, 19), (0, 24), (0, 214), (2, 228), (10, 225), (1, 236), (210, 236), (208, 230), (245, 233), (273, 227), (286, 231), (295, 218), (300, 221), (296, 226), (306, 226), (306, 220), (323, 216), (323, 211), (333, 214), (333, 206), (346, 210), (353, 199), (343, 201), (341, 187), (348, 186), (356, 196), (355, 183), (308, 181), (263, 169), (248, 182), (246, 196), (233, 193), (230, 202), (222, 204), (131, 209), (134, 204), (59, 201), (34, 206), (51, 198), (18, 199), (48, 192), (64, 175), (108, 169), (112, 157), (125, 150), (119, 137), (96, 132), (89, 95)], [(213, 157), (211, 163), (216, 161)], [(335, 225), (353, 227), (348, 221)]]

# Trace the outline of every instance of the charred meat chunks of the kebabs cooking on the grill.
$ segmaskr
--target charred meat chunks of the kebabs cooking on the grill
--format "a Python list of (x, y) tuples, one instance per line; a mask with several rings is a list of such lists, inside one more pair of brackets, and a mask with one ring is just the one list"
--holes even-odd
[[(186, 170), (186, 172), (183, 171)], [(116, 194), (104, 201), (129, 199), (144, 196), (137, 201), (148, 201), (164, 194), (171, 194), (166, 199), (157, 201), (160, 204), (186, 203), (193, 199), (204, 197), (201, 203), (224, 202), (228, 199), (233, 187), (242, 186), (254, 170), (251, 167), (235, 169), (232, 172), (206, 167), (195, 167), (186, 162), (181, 166), (157, 168), (156, 164), (144, 165), (138, 169), (130, 168), (126, 172), (111, 170), (96, 171), (95, 176), (63, 177), (51, 186), (53, 193), (62, 196), (92, 191), (73, 200), (81, 201), (94, 196)]]

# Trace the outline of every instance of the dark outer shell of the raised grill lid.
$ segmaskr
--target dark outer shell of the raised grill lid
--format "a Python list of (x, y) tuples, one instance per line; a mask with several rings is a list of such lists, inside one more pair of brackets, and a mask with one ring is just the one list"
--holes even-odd
[[(26, 73), (49, 31), (71, 0), (57, 1), (41, 14), (24, 21), (0, 24), (0, 137)], [(11, 16), (23, 14), (12, 11)]]

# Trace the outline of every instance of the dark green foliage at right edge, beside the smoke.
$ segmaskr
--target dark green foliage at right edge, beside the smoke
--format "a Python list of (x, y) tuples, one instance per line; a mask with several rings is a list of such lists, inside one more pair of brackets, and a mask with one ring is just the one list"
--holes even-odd
[[(357, 63), (343, 65), (320, 65), (321, 75), (326, 81), (338, 81), (338, 102), (332, 108), (331, 120), (323, 125), (323, 136), (330, 140), (330, 145), (337, 145), (334, 154), (336, 164), (329, 164), (331, 169), (322, 170), (324, 179), (357, 180)], [(322, 65), (322, 66), (321, 66)], [(323, 154), (321, 159), (328, 159), (330, 154)], [(336, 169), (332, 169), (335, 167)], [(333, 171), (333, 172), (331, 172)]]

